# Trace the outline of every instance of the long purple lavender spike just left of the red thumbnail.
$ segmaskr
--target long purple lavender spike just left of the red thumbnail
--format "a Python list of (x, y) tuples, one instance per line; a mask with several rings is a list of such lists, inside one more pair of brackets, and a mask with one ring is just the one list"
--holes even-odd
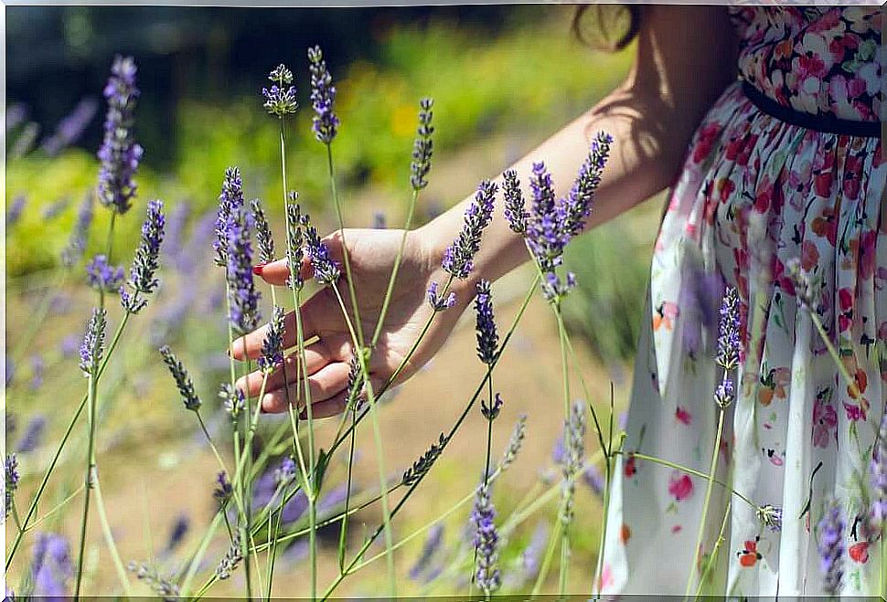
[(230, 215), (226, 231), (229, 320), (238, 334), (255, 330), (261, 319), (259, 313), (261, 295), (256, 290), (252, 278), (251, 221), (251, 216), (240, 206)]

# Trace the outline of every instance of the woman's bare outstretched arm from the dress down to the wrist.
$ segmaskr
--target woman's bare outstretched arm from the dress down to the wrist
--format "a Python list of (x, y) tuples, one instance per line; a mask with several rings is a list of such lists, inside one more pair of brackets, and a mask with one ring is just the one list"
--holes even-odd
[[(720, 6), (645, 6), (637, 55), (625, 81), (575, 121), (513, 165), (521, 184), (544, 161), (557, 194), (572, 186), (596, 132), (614, 137), (587, 226), (594, 227), (670, 185), (705, 111), (736, 77), (735, 39)], [(497, 179), (501, 185), (501, 177)], [(431, 263), (462, 227), (471, 197), (417, 231)], [(528, 259), (502, 207), (486, 230), (472, 280), (496, 280)], [(472, 282), (465, 283), (469, 286)]]

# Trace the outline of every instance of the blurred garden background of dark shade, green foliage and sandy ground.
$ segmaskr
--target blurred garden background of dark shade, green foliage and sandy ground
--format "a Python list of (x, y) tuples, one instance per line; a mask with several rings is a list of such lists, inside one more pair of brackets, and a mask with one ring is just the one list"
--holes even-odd
[[(102, 88), (115, 54), (133, 55), (139, 67), (142, 95), (135, 135), (145, 149), (139, 197), (118, 220), (115, 262), (131, 258), (146, 200), (165, 201), (169, 235), (161, 290), (132, 322), (102, 379), (99, 463), (124, 560), (148, 562), (172, 575), (211, 517), (215, 463), (156, 349), (170, 344), (190, 367), (207, 401), (209, 427), (226, 440), (226, 417), (215, 399), (227, 369), (223, 284), (209, 244), (222, 174), (229, 165), (240, 166), (248, 197), (266, 199), (282, 240), (277, 122), (262, 111), (259, 93), (268, 71), (280, 62), (294, 70), (300, 104), (308, 110), (298, 113), (289, 132), (289, 181), (327, 228), (334, 214), (326, 156), (309, 130), (306, 48), (324, 48), (337, 81), (342, 126), (335, 154), (348, 226), (369, 227), (379, 212), (390, 227), (402, 223), (418, 100), (433, 97), (435, 151), (431, 185), (418, 208), (422, 223), (470, 194), (480, 179), (501, 172), (625, 76), (632, 49), (606, 53), (583, 46), (571, 33), (573, 11), (563, 5), (6, 7), (6, 446), (19, 455), (20, 505), (27, 505), (85, 388), (76, 349), (94, 293), (85, 283), (83, 262), (64, 269), (60, 257), (83, 198), (95, 185), (95, 151), (105, 111)], [(568, 254), (579, 287), (565, 312), (581, 373), (591, 401), (601, 408), (609, 407), (613, 385), (617, 413), (629, 389), (660, 208), (657, 202), (639, 206), (576, 240)], [(108, 219), (107, 211), (96, 206), (87, 258), (102, 251)], [(500, 328), (517, 312), (531, 275), (529, 269), (518, 269), (494, 287)], [(119, 320), (115, 311), (112, 325)], [(409, 466), (452, 425), (484, 374), (468, 353), (475, 343), (473, 319), (465, 317), (442, 353), (388, 396), (382, 429), (392, 474)], [(527, 448), (495, 491), (506, 520), (521, 500), (557, 487), (550, 479), (559, 474), (552, 459), (562, 428), (559, 347), (555, 322), (541, 299), (531, 302), (497, 367), (496, 385), (506, 399), (495, 434), (497, 449), (505, 446), (518, 415), (529, 415)], [(578, 380), (572, 390), (581, 390)], [(335, 420), (328, 422), (322, 442), (337, 427)], [(275, 424), (274, 417), (267, 417), (262, 435)], [(53, 512), (16, 556), (12, 585), (27, 579), (37, 531), (76, 541), (80, 498), (70, 496), (82, 481), (84, 432), (85, 425), (76, 429), (50, 483), (37, 514)], [(461, 444), (447, 449), (398, 518), (397, 539), (471, 491), (481, 471), (485, 435), (486, 423), (476, 412), (460, 431)], [(588, 440), (592, 455), (596, 446), (592, 436)], [(358, 449), (358, 485), (369, 492), (376, 482), (369, 433), (358, 438)], [(343, 473), (344, 465), (335, 464), (330, 508)], [(586, 591), (600, 498), (593, 486), (580, 489), (572, 585)], [(430, 568), (415, 575), (411, 571), (424, 535), (399, 550), (401, 594), (464, 592), (468, 569), (447, 570), (444, 559), (452, 560), (465, 548), (468, 511), (463, 506), (444, 521), (449, 552), (439, 554)], [(555, 516), (550, 503), (516, 526), (502, 556), (507, 590), (523, 591), (531, 580), (525, 575), (532, 568), (528, 550)], [(361, 512), (356, 533), (362, 533), (359, 525), (371, 529), (378, 520), (375, 508)], [(92, 526), (85, 591), (107, 594), (116, 580), (98, 525)], [(6, 525), (7, 542), (12, 529)], [(337, 528), (331, 533), (326, 544), (335, 554)], [(224, 542), (217, 544), (209, 563), (224, 554)], [(297, 541), (283, 557), (275, 593), (305, 593), (304, 557), (304, 543)], [(322, 584), (334, 576), (333, 556), (327, 560)], [(342, 594), (379, 591), (383, 569), (384, 561), (350, 578)], [(238, 580), (235, 575), (212, 593), (239, 592)]]

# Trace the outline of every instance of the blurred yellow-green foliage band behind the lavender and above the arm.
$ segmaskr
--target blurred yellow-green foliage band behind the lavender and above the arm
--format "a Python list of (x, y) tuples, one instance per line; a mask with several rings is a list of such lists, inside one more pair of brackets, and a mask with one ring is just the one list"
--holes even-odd
[[(418, 101), (423, 96), (435, 101), (434, 143), (439, 158), (492, 132), (550, 131), (612, 88), (625, 73), (627, 56), (582, 47), (569, 32), (569, 9), (552, 9), (547, 15), (545, 21), (524, 22), (492, 39), (470, 25), (451, 21), (422, 28), (392, 27), (380, 43), (378, 63), (358, 60), (344, 73), (334, 72), (342, 127), (333, 152), (340, 181), (352, 188), (369, 185), (386, 195), (407, 191)], [(269, 68), (276, 60), (269, 57)], [(291, 67), (297, 73), (303, 106), (287, 124), (288, 185), (299, 191), (306, 206), (323, 210), (329, 206), (326, 153), (310, 133), (305, 65)], [(117, 225), (115, 247), (122, 249), (123, 257), (134, 247), (145, 199), (161, 197), (169, 206), (187, 200), (193, 205), (192, 215), (198, 215), (215, 206), (229, 165), (240, 166), (247, 195), (280, 198), (279, 122), (264, 113), (259, 95), (267, 83), (264, 74), (257, 73), (253, 97), (226, 105), (179, 104), (176, 166), (170, 174), (140, 170), (140, 201), (132, 211), (138, 217), (127, 216)], [(51, 160), (32, 153), (7, 165), (7, 198), (25, 194), (28, 199), (21, 221), (7, 232), (9, 274), (58, 263), (80, 198), (97, 173), (95, 160), (78, 150)], [(60, 195), (72, 197), (68, 209), (52, 220), (43, 219), (43, 207)], [(282, 218), (277, 203), (267, 205), (273, 217)], [(93, 231), (103, 232), (107, 212), (97, 207), (96, 216)]]

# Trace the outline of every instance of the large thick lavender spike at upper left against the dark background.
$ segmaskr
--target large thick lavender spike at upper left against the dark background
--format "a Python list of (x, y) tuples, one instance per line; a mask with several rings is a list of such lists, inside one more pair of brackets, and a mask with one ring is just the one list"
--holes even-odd
[(134, 175), (142, 159), (142, 147), (134, 142), (133, 123), (139, 89), (135, 87), (135, 62), (132, 57), (114, 58), (111, 77), (104, 89), (108, 113), (104, 140), (99, 149), (98, 195), (102, 205), (123, 214), (132, 206), (136, 185)]

